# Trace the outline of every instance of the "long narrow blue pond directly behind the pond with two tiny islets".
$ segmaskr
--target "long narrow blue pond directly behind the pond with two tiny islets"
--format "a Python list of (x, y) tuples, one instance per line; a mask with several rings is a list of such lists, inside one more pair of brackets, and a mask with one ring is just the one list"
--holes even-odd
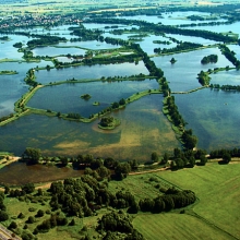
[(148, 74), (143, 61), (135, 63), (120, 63), (120, 64), (96, 64), (96, 65), (80, 65), (65, 69), (52, 69), (50, 71), (41, 70), (35, 72), (37, 82), (41, 84), (50, 82), (59, 82), (64, 80), (83, 79), (100, 79), (101, 76), (130, 76), (135, 74)]

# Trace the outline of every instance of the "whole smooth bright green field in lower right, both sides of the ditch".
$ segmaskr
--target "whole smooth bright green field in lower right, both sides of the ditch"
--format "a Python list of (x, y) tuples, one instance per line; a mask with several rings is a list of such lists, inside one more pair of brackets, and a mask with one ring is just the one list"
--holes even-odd
[[(164, 239), (240, 239), (237, 227), (240, 226), (239, 172), (239, 164), (212, 163), (205, 167), (155, 173), (180, 188), (191, 189), (200, 202), (187, 211), (190, 215), (139, 215), (134, 227), (146, 239), (159, 239), (159, 233), (169, 236)], [(175, 238), (171, 232), (176, 232)]]

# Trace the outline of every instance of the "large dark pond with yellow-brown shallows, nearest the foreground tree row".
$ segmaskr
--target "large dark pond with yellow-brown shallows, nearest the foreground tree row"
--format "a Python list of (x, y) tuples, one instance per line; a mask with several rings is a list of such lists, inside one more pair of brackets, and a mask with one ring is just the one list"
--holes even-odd
[(29, 115), (1, 127), (0, 151), (21, 155), (26, 146), (38, 147), (48, 156), (113, 157), (120, 160), (148, 160), (179, 147), (171, 124), (161, 112), (161, 95), (148, 95), (112, 112), (121, 124), (112, 131), (100, 130), (99, 120), (72, 122), (57, 117)]

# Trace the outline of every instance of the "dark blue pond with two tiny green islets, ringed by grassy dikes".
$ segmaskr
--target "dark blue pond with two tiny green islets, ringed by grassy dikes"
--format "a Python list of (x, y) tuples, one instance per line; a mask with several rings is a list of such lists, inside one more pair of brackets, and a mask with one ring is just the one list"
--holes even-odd
[[(40, 88), (28, 101), (27, 106), (40, 109), (51, 109), (62, 113), (75, 112), (88, 118), (121, 98), (145, 91), (159, 88), (156, 80), (123, 81), (123, 82), (89, 82), (79, 84), (61, 84)], [(89, 94), (91, 99), (84, 100), (80, 96)], [(93, 103), (100, 103), (93, 106)]]

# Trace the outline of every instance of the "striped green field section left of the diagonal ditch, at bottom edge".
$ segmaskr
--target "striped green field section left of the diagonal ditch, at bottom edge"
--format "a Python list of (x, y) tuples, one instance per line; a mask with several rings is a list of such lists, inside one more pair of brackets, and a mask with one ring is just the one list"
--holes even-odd
[(200, 219), (187, 214), (143, 214), (133, 220), (146, 240), (231, 239)]

